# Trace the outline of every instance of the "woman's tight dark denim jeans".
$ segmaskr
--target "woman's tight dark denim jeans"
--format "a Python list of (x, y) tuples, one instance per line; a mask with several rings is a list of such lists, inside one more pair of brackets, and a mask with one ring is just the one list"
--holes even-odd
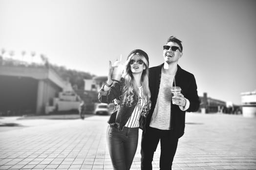
[(107, 128), (107, 146), (114, 170), (129, 170), (138, 146), (139, 128)]

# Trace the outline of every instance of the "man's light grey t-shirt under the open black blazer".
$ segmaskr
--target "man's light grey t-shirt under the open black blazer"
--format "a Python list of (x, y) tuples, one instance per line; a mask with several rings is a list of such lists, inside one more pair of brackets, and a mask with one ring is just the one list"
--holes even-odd
[(175, 75), (162, 72), (159, 93), (149, 126), (161, 130), (170, 130), (171, 86)]

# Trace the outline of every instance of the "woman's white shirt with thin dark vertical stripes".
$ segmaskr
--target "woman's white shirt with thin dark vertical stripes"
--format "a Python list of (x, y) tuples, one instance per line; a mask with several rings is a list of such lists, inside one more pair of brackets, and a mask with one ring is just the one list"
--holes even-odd
[(139, 118), (140, 118), (142, 108), (145, 106), (145, 100), (142, 97), (143, 96), (142, 86), (138, 87), (138, 89), (139, 89), (139, 100), (140, 100), (140, 102), (137, 103), (137, 105), (135, 106), (130, 118), (126, 122), (125, 126), (129, 127), (129, 128), (136, 128), (136, 127), (140, 126)]

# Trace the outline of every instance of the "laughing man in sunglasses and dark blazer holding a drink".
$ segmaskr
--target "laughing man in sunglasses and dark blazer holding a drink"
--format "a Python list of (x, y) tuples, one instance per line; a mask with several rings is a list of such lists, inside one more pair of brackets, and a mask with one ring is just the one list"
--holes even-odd
[[(164, 63), (149, 68), (151, 109), (146, 119), (146, 132), (142, 134), (141, 170), (152, 170), (159, 140), (160, 170), (171, 170), (178, 139), (184, 134), (185, 112), (195, 112), (199, 108), (195, 78), (178, 65), (182, 50), (181, 41), (169, 37), (163, 51)], [(172, 86), (181, 87), (178, 96), (171, 97)]]

